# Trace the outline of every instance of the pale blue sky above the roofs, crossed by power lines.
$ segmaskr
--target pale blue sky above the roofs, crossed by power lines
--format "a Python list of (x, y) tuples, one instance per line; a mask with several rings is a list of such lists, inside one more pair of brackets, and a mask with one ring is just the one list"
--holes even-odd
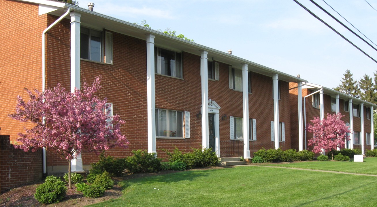
[[(315, 0), (341, 19), (323, 0)], [(364, 0), (325, 0), (377, 44), (377, 12)], [(377, 9), (377, 0), (367, 0)], [(328, 88), (345, 70), (354, 79), (373, 76), (377, 63), (318, 21), (293, 0), (90, 0), (94, 11), (121, 20), (146, 20), (152, 29), (170, 27), (195, 43), (248, 59)], [(299, 0), (377, 60), (377, 51), (322, 12)], [(87, 3), (79, 1), (87, 8)], [(346, 24), (349, 25), (348, 23)], [(352, 28), (353, 29), (353, 28)], [(353, 29), (356, 31), (356, 29)], [(356, 31), (357, 32), (357, 31)], [(372, 44), (373, 45), (373, 44)], [(375, 46), (377, 48), (377, 46)]]

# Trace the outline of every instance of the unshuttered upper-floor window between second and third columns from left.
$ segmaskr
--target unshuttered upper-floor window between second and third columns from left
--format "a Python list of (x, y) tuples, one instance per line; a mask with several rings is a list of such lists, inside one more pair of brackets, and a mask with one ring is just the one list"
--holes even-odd
[(155, 47), (155, 73), (182, 78), (181, 53)]

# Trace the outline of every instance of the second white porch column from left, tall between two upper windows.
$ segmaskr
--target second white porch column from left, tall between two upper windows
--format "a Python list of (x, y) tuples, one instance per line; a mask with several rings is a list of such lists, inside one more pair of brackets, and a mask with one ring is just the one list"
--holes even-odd
[(147, 35), (148, 152), (156, 153), (155, 35)]

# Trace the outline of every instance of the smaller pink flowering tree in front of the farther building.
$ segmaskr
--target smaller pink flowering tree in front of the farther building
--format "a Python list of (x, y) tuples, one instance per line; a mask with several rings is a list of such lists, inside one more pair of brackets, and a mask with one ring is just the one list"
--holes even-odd
[[(341, 120), (343, 116), (340, 113), (327, 114), (327, 118), (322, 121), (318, 116), (311, 120), (313, 125), (308, 124), (307, 130), (313, 133), (313, 138), (308, 140), (308, 145), (314, 145), (314, 153), (321, 152), (321, 149), (326, 152), (337, 149), (337, 147), (342, 148), (345, 144), (345, 139), (349, 140), (347, 133), (351, 131)], [(331, 156), (334, 159), (334, 154)]]

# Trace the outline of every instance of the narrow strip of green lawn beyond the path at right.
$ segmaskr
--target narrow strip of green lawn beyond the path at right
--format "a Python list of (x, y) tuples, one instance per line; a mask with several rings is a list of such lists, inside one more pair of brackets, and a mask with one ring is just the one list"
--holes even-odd
[(364, 158), (362, 163), (353, 161), (310, 161), (270, 165), (377, 175), (377, 157)]

